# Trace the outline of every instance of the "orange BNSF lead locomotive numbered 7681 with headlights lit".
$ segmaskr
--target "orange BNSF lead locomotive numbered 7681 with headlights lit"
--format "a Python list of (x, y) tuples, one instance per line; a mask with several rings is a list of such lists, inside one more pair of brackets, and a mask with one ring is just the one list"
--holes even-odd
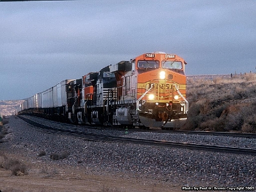
[(185, 65), (175, 54), (152, 52), (111, 66), (117, 80), (113, 124), (184, 124), (188, 113)]

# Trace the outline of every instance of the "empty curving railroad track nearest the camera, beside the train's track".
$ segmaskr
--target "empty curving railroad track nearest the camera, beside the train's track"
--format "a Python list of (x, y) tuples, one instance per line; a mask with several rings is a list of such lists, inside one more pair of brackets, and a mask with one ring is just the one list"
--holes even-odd
[(40, 127), (44, 130), (51, 132), (60, 132), (64, 134), (69, 134), (72, 136), (79, 136), (86, 138), (87, 140), (98, 140), (98, 141), (116, 141), (116, 142), (124, 142), (124, 143), (135, 143), (141, 145), (157, 145), (163, 147), (175, 147), (175, 148), (188, 148), (191, 150), (206, 150), (211, 152), (225, 152), (232, 154), (246, 154), (256, 156), (256, 150), (251, 148), (236, 148), (236, 147), (223, 147), (223, 146), (214, 146), (214, 145), (202, 145), (195, 143), (180, 143), (180, 142), (172, 142), (172, 141), (159, 141), (159, 140), (145, 140), (145, 139), (136, 139), (136, 138), (124, 138), (119, 136), (109, 136), (104, 134), (95, 134), (90, 132), (82, 132), (75, 131), (70, 129), (62, 129), (58, 127), (51, 127), (49, 125), (40, 124), (28, 118), (24, 118), (23, 116), (19, 116), (21, 120), (27, 122), (30, 125), (35, 127)]

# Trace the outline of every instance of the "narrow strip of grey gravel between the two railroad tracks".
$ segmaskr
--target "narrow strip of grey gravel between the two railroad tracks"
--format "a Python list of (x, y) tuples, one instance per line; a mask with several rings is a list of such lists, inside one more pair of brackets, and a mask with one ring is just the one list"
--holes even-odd
[[(63, 128), (63, 124), (52, 121), (45, 121), (42, 118), (35, 116), (26, 116), (40, 124), (49, 125), (53, 127)], [(112, 136), (122, 136), (127, 138), (145, 139), (145, 140), (160, 140), (160, 141), (173, 141), (184, 143), (195, 143), (202, 145), (220, 145), (223, 147), (238, 147), (238, 148), (252, 148), (256, 149), (256, 138), (239, 138), (232, 136), (208, 136), (199, 134), (170, 134), (164, 132), (138, 132), (138, 131), (118, 131), (113, 129), (92, 129), (88, 126), (74, 126), (65, 124), (67, 129), (76, 129), (83, 132), (92, 132), (96, 134), (106, 134)]]

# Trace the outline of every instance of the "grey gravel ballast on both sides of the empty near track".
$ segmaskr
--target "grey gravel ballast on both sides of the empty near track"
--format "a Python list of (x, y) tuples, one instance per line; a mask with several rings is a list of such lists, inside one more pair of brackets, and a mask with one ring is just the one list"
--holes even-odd
[[(38, 118), (37, 118), (38, 119)], [(44, 124), (54, 124), (41, 120)], [(54, 126), (54, 125), (52, 125)], [(65, 127), (69, 125), (56, 124)], [(160, 182), (181, 186), (255, 186), (256, 157), (241, 154), (226, 154), (167, 148), (131, 143), (88, 141), (67, 134), (53, 134), (32, 127), (19, 118), (10, 117), (10, 134), (4, 138), (12, 148), (26, 150), (24, 156), (35, 156), (36, 161), (56, 163), (63, 166), (77, 165), (86, 172), (102, 175), (120, 175), (138, 179), (156, 179)], [(74, 126), (71, 126), (74, 128)], [(76, 129), (87, 129), (77, 127)], [(93, 130), (93, 129), (92, 129)], [(92, 132), (90, 129), (90, 132)], [(97, 131), (97, 130), (93, 130)], [(98, 133), (106, 131), (99, 130)], [(255, 139), (222, 136), (196, 136), (184, 134), (160, 134), (154, 132), (108, 131), (108, 134), (172, 140), (209, 145), (227, 145), (256, 148)], [(225, 143), (225, 144), (223, 144)], [(4, 143), (0, 145), (5, 145)], [(40, 152), (45, 156), (39, 157)], [(52, 160), (51, 154), (66, 153), (65, 159)]]

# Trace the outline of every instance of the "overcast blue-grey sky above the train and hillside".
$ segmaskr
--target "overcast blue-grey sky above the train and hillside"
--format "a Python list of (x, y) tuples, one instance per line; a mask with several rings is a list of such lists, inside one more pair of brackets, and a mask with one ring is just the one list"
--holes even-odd
[(24, 99), (145, 52), (186, 74), (256, 72), (255, 0), (0, 2), (0, 100)]

